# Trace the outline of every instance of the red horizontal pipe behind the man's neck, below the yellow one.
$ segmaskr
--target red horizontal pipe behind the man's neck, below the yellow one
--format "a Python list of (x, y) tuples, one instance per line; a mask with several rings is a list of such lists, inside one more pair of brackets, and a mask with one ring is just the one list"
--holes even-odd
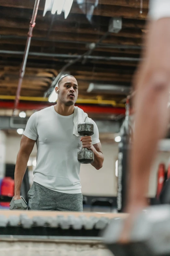
[[(25, 103), (19, 102), (18, 109), (19, 110), (41, 110), (47, 107), (55, 105), (55, 103)], [(114, 107), (101, 107), (101, 106), (87, 106), (76, 104), (80, 109), (87, 113), (107, 113), (107, 114), (125, 114), (124, 108), (114, 108)], [(14, 103), (12, 101), (0, 101), (0, 108), (3, 109), (13, 109)]]

